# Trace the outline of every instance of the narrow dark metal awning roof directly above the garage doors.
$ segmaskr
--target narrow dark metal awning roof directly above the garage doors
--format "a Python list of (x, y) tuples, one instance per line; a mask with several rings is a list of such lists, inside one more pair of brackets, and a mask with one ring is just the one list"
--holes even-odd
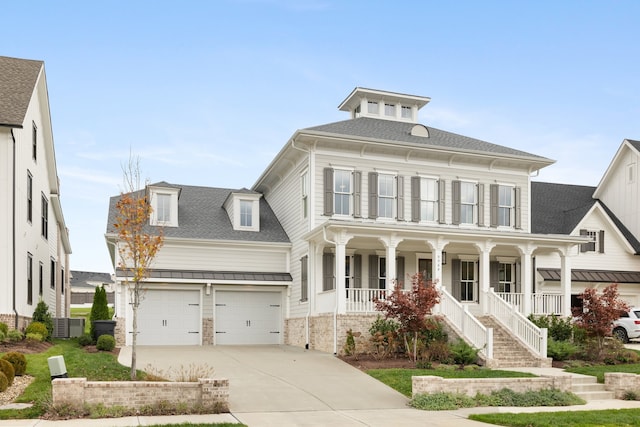
[[(118, 277), (131, 277), (131, 272), (119, 268)], [(248, 272), (248, 271), (201, 271), (201, 270), (161, 270), (150, 269), (150, 279), (179, 279), (179, 280), (212, 280), (233, 282), (291, 282), (289, 273)]]

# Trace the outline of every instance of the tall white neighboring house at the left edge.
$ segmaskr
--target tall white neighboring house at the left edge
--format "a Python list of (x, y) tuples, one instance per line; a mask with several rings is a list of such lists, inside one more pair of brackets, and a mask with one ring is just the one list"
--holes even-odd
[(0, 56), (0, 321), (69, 316), (69, 233), (42, 61)]

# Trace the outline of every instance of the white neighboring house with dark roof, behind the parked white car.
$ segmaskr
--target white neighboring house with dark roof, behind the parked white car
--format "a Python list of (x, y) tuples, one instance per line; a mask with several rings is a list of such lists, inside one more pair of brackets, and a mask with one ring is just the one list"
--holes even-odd
[[(597, 187), (532, 183), (534, 231), (591, 240), (572, 259), (572, 306), (580, 305), (577, 296), (585, 288), (611, 283), (629, 304), (640, 305), (639, 159), (640, 142), (625, 140)], [(537, 290), (560, 293), (559, 257), (539, 256), (536, 265)]]

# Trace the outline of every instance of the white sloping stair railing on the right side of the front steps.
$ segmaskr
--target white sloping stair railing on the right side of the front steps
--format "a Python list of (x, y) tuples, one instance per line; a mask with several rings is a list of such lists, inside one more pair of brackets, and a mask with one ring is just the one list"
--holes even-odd
[(487, 293), (488, 314), (505, 325), (535, 354), (547, 357), (547, 330), (540, 329), (518, 311), (516, 306), (503, 300), (493, 289)]

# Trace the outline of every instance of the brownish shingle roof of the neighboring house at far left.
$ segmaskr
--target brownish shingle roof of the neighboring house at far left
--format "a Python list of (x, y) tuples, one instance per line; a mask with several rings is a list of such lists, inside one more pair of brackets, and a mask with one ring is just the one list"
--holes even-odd
[(0, 126), (22, 127), (43, 64), (0, 56)]

